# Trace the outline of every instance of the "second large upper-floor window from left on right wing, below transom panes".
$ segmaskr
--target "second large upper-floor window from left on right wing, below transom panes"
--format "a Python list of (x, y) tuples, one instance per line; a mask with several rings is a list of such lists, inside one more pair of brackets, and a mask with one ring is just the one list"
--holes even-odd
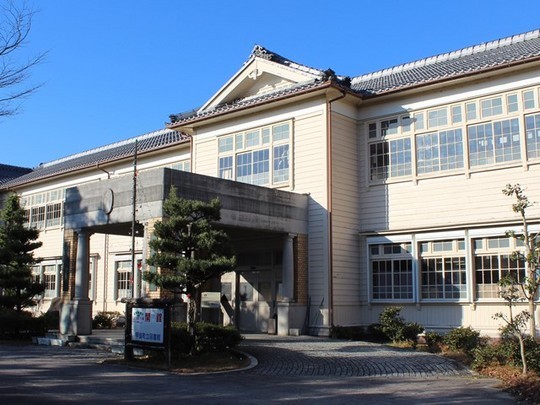
[(463, 167), (461, 129), (416, 137), (417, 173), (426, 174)]

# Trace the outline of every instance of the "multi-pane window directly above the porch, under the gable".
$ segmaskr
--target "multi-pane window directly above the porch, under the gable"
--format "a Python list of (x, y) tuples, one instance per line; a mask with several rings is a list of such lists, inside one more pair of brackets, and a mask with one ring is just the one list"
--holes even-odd
[(290, 140), (288, 122), (219, 138), (219, 177), (257, 185), (287, 183)]

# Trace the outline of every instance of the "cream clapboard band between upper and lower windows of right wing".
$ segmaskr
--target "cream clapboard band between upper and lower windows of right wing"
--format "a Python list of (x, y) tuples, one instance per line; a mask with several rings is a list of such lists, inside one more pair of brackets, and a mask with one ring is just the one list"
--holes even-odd
[[(531, 201), (539, 201), (540, 166), (514, 167), (413, 182), (370, 186), (363, 194), (362, 231), (399, 231), (517, 220), (513, 199), (502, 189), (506, 184), (528, 186)], [(540, 207), (528, 210), (538, 217)]]

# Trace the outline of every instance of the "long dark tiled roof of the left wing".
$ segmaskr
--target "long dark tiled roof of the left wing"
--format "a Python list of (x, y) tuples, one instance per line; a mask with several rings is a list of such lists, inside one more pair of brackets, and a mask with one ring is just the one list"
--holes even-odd
[(91, 149), (86, 152), (77, 153), (52, 162), (42, 163), (30, 173), (0, 184), (0, 190), (31, 183), (51, 176), (69, 173), (74, 170), (95, 167), (98, 164), (128, 158), (135, 153), (135, 140), (137, 140), (137, 153), (143, 154), (184, 143), (187, 139), (187, 135), (168, 129), (150, 132), (145, 135)]

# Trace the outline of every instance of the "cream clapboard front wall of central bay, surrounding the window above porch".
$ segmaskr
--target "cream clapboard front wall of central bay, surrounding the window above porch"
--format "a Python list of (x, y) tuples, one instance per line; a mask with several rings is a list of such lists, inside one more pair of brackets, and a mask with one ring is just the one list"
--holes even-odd
[[(309, 295), (312, 305), (322, 303), (323, 322), (328, 320), (328, 218), (326, 121), (324, 99), (312, 99), (293, 106), (243, 117), (225, 125), (197, 130), (194, 136), (194, 171), (217, 176), (217, 137), (249, 128), (292, 120), (292, 179), (284, 190), (309, 193)], [(324, 309), (326, 308), (326, 309)], [(314, 315), (315, 316), (315, 315)], [(313, 318), (312, 318), (313, 319)]]

